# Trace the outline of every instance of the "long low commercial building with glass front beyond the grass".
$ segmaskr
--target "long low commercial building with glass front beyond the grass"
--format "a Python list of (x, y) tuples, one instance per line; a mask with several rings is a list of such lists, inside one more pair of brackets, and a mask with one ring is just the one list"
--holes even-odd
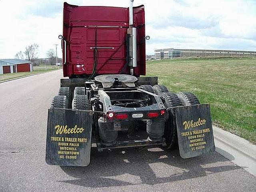
[(189, 57), (254, 57), (255, 51), (236, 51), (236, 50), (202, 50), (202, 49), (156, 49), (156, 59), (173, 59)]

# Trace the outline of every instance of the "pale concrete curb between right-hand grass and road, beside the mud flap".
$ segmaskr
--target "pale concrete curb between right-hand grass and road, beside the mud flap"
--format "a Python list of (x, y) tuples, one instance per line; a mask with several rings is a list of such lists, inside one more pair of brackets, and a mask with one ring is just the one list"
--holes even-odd
[(216, 152), (256, 176), (256, 145), (213, 126)]

